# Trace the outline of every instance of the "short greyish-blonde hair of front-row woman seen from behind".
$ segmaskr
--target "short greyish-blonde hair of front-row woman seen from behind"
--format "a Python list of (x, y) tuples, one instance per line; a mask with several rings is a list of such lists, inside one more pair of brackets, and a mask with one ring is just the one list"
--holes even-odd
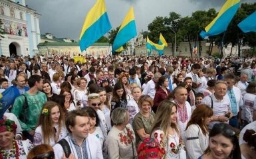
[(114, 125), (122, 125), (128, 121), (128, 111), (126, 109), (118, 107), (112, 111), (111, 120)]

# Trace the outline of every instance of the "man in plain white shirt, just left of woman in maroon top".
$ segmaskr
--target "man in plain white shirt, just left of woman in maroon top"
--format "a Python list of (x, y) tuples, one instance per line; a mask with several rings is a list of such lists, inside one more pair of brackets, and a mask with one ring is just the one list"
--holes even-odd
[(148, 81), (146, 83), (146, 86), (144, 90), (142, 91), (142, 95), (150, 95), (152, 99), (154, 99), (156, 94), (156, 83), (158, 82), (158, 79), (162, 76), (159, 72), (156, 72), (154, 75), (154, 78)]

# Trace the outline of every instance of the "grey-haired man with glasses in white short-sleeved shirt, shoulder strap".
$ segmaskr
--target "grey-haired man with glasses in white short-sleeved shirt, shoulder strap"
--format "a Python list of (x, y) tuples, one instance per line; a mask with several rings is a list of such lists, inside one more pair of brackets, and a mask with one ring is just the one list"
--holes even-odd
[(202, 104), (208, 105), (213, 109), (213, 117), (209, 123), (209, 129), (212, 129), (215, 123), (229, 123), (229, 118), (233, 115), (230, 111), (229, 99), (224, 96), (227, 93), (227, 82), (223, 80), (216, 81), (215, 92), (203, 98)]

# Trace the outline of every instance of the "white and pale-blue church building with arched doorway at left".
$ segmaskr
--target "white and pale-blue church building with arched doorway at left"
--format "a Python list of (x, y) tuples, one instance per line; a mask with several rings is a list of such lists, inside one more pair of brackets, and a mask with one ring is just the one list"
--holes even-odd
[(39, 15), (27, 7), (25, 0), (1, 0), (0, 28), (5, 34), (0, 37), (0, 55), (33, 56), (39, 53), (41, 41)]

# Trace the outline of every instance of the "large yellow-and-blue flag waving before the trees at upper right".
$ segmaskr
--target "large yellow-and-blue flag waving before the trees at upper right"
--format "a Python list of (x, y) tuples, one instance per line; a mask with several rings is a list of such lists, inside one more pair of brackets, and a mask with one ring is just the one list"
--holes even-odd
[(205, 31), (200, 32), (200, 36), (205, 38), (205, 36), (213, 36), (221, 34), (227, 30), (227, 26), (233, 19), (237, 9), (239, 8), (240, 0), (227, 0), (219, 11), (217, 17), (205, 27)]

